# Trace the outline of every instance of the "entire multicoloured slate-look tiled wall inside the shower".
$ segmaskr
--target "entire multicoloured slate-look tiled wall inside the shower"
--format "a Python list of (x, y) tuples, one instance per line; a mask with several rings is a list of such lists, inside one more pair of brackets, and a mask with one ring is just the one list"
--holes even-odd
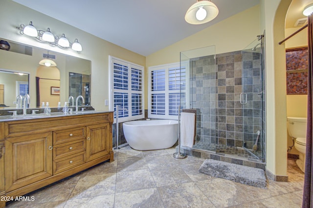
[[(235, 51), (217, 54), (216, 63), (213, 55), (190, 60), (198, 141), (252, 148), (262, 128), (260, 58), (260, 53)], [(262, 134), (259, 147), (260, 141)]]

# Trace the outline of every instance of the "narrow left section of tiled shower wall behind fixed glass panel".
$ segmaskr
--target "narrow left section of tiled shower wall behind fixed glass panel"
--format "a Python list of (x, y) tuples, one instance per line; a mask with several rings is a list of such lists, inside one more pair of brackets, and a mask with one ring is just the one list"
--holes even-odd
[(190, 104), (197, 109), (196, 141), (215, 143), (217, 132), (214, 56), (190, 60)]

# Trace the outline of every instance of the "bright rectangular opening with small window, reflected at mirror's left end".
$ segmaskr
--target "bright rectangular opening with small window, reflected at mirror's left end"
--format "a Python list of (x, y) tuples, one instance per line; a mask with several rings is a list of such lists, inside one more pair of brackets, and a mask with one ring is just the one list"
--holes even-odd
[(29, 74), (0, 69), (0, 109), (16, 108), (16, 97), (29, 93)]

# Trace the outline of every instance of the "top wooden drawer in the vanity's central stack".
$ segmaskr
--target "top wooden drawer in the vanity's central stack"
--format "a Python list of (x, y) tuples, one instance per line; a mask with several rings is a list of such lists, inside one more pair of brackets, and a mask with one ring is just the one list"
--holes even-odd
[(65, 129), (53, 132), (53, 145), (77, 139), (86, 139), (86, 127)]

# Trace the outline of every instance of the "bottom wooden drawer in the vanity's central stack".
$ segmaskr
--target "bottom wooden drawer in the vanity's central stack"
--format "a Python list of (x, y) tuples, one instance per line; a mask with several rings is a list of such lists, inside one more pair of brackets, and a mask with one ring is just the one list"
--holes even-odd
[(70, 168), (76, 167), (86, 162), (86, 153), (80, 152), (53, 161), (53, 175), (61, 173)]

